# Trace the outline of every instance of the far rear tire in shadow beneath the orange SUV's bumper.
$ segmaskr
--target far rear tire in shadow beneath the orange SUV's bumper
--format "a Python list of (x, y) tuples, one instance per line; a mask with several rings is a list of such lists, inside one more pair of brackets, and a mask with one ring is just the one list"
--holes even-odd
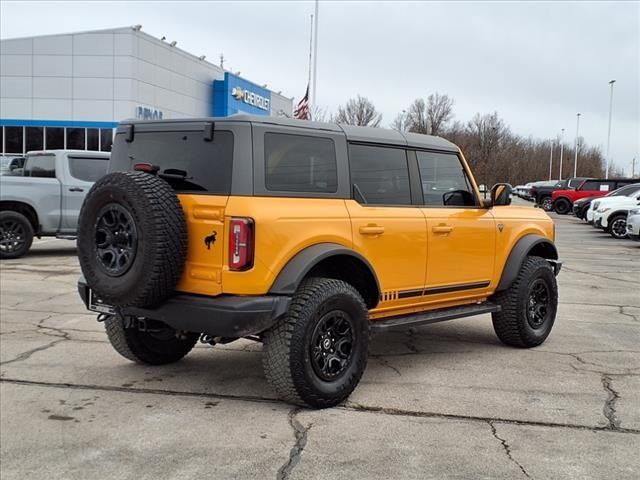
[(125, 328), (120, 316), (109, 315), (104, 321), (107, 337), (124, 358), (144, 365), (164, 365), (180, 360), (198, 341), (197, 333), (177, 332), (169, 326), (159, 333)]

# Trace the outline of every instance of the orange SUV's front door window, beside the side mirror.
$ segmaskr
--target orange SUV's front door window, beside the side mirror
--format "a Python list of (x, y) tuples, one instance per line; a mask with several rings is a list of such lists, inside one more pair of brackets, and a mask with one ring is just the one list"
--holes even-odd
[(457, 155), (416, 152), (425, 205), (474, 205), (467, 174)]

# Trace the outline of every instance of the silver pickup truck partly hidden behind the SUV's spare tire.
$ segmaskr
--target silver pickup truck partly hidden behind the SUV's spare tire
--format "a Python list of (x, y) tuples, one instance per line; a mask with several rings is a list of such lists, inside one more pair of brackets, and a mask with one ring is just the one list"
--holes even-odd
[(0, 176), (0, 258), (21, 257), (34, 236), (75, 238), (84, 197), (108, 165), (105, 152), (44, 150)]

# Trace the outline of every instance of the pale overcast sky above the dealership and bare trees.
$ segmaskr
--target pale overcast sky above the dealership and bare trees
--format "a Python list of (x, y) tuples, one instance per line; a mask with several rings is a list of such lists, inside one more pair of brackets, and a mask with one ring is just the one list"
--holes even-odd
[[(2, 38), (142, 24), (143, 31), (296, 97), (308, 75), (313, 2), (2, 0)], [(388, 125), (415, 98), (447, 93), (455, 120), (497, 111), (523, 136), (549, 138), (576, 113), (590, 145), (640, 170), (639, 2), (320, 2), (317, 103), (357, 94)], [(557, 158), (557, 154), (556, 154)]]

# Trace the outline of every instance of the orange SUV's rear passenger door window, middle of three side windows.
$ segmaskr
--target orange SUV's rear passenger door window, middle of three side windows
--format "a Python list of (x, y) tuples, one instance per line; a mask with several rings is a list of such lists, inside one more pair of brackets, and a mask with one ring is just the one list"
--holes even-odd
[(349, 145), (349, 168), (355, 198), (373, 205), (409, 205), (407, 153), (399, 148)]

